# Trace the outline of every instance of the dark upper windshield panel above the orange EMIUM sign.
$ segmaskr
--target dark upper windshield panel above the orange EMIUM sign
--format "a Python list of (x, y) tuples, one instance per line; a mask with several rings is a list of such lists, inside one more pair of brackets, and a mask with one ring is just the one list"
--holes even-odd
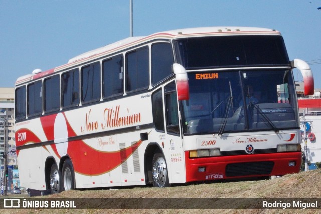
[(178, 63), (188, 69), (289, 65), (283, 38), (238, 35), (184, 38), (174, 41)]

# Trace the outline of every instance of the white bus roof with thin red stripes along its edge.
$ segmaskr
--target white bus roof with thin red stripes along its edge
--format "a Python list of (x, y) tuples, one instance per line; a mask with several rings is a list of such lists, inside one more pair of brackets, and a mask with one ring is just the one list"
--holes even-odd
[(141, 37), (128, 37), (126, 39), (117, 41), (115, 43), (108, 44), (106, 46), (88, 51), (86, 53), (80, 54), (76, 57), (71, 58), (67, 64), (58, 66), (54, 69), (44, 71), (41, 73), (29, 74), (19, 77), (16, 81), (16, 85), (23, 82), (38, 79), (40, 77), (46, 76), (56, 71), (61, 71), (66, 68), (84, 63), (88, 60), (93, 60), (104, 55), (111, 54), (118, 50), (126, 49), (131, 46), (135, 46), (144, 42), (148, 42), (154, 39), (174, 39), (180, 37), (197, 37), (197, 36), (214, 36), (214, 35), (242, 35), (242, 34), (271, 34), (280, 35), (280, 32), (268, 29), (268, 28), (256, 28), (256, 27), (232, 27), (232, 26), (216, 26), (216, 27), (199, 27), (199, 28), (186, 28), (186, 29), (176, 29), (164, 32), (158, 32), (151, 34), (149, 36)]

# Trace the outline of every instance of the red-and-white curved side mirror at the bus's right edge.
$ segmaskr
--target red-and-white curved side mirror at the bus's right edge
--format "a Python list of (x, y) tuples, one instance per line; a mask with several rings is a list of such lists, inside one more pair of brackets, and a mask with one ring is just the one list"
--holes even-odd
[(314, 94), (314, 78), (310, 66), (303, 60), (294, 59), (291, 61), (292, 68), (300, 70), (304, 82), (304, 95)]

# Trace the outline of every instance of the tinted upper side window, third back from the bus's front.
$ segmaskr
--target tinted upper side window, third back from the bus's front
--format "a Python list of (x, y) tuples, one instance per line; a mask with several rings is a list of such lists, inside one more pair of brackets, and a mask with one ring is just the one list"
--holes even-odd
[(123, 56), (118, 55), (102, 62), (103, 98), (123, 94)]

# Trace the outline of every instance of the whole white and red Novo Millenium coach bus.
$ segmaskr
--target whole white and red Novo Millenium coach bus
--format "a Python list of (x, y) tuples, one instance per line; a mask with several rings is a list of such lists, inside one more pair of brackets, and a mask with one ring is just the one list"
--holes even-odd
[(208, 27), (130, 37), (17, 79), (21, 185), (40, 191), (284, 175), (301, 164), (280, 32)]

